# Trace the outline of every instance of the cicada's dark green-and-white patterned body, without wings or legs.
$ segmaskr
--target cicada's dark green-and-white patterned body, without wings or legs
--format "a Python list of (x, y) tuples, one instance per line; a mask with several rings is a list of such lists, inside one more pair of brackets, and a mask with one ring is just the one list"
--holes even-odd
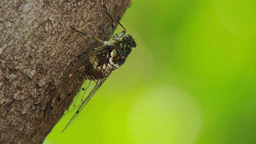
[[(123, 41), (117, 41), (113, 46), (108, 46), (106, 52), (99, 52), (91, 56), (89, 66), (82, 66), (79, 70), (81, 79), (99, 80), (106, 77), (113, 70), (124, 64), (128, 55), (132, 51), (132, 46)], [(90, 69), (88, 69), (90, 68)]]

